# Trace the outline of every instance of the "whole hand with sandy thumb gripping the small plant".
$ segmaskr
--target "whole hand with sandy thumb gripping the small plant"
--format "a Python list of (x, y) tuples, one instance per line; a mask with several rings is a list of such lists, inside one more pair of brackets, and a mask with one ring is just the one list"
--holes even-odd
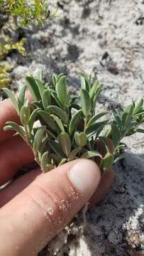
[[(4, 100), (0, 103), (0, 186), (34, 159), (20, 137), (4, 132), (9, 120), (19, 122), (10, 100)], [(0, 191), (0, 255), (37, 255), (87, 202), (99, 203), (112, 182), (112, 169), (101, 177), (97, 164), (87, 159), (71, 161), (48, 174), (35, 169), (17, 178)]]

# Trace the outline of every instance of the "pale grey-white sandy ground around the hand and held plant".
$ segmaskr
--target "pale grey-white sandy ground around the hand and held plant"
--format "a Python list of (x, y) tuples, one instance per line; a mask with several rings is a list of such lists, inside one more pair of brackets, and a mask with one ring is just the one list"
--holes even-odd
[[(56, 1), (49, 1), (55, 6)], [(77, 90), (79, 73), (92, 73), (103, 84), (97, 108), (123, 108), (144, 92), (144, 1), (60, 1), (59, 17), (45, 28), (24, 31), (27, 56), (12, 53), (11, 87), (39, 68), (50, 78), (65, 73)], [(61, 38), (61, 39), (60, 39)], [(64, 42), (65, 41), (65, 42)], [(126, 157), (115, 166), (111, 193), (74, 220), (40, 256), (125, 256), (144, 246), (144, 137), (126, 139)]]

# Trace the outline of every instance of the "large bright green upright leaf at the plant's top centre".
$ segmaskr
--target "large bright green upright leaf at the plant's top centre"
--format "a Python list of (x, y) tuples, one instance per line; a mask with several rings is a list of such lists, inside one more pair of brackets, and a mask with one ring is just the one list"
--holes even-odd
[(57, 81), (56, 91), (57, 91), (57, 97), (59, 98), (62, 105), (63, 106), (67, 105), (67, 103), (68, 103), (68, 93), (67, 93), (67, 85), (66, 85), (65, 75), (63, 75)]

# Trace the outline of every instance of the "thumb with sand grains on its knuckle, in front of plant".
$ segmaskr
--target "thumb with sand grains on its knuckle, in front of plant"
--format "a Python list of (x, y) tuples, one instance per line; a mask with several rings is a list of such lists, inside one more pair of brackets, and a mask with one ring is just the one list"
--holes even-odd
[(37, 255), (96, 190), (100, 171), (81, 159), (40, 175), (0, 211), (0, 255)]

